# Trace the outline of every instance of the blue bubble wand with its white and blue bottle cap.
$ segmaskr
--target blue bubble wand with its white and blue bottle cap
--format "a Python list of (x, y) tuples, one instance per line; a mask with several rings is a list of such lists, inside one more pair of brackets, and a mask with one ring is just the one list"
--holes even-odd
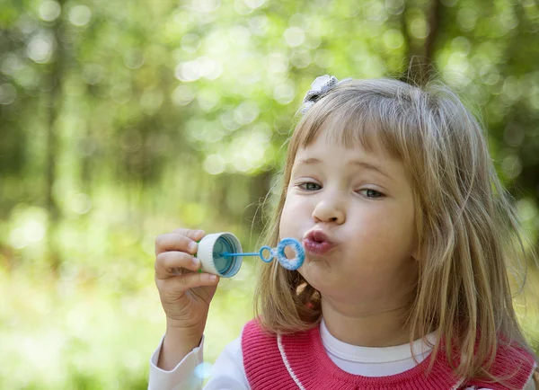
[[(288, 259), (285, 253), (290, 247), (296, 256)], [(258, 256), (261, 261), (270, 262), (277, 258), (287, 270), (297, 270), (305, 261), (305, 249), (295, 238), (284, 238), (277, 248), (262, 246), (259, 252), (243, 253), (240, 240), (232, 233), (214, 233), (204, 236), (199, 242), (197, 257), (201, 270), (223, 278), (233, 277), (242, 267), (243, 257)]]

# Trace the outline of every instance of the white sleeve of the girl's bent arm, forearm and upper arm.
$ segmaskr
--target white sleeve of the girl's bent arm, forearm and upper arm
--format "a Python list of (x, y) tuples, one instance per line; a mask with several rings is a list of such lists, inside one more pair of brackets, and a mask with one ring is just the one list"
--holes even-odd
[[(157, 367), (157, 359), (163, 346), (155, 350), (150, 359), (150, 375), (148, 390), (200, 390), (203, 378), (197, 376), (196, 368), (203, 362), (202, 350), (204, 336), (199, 347), (178, 363), (171, 371), (164, 371)], [(199, 370), (201, 374), (201, 370)], [(216, 359), (211, 368), (211, 377), (204, 390), (250, 390), (243, 368), (242, 339), (236, 338), (225, 347), (225, 350)]]

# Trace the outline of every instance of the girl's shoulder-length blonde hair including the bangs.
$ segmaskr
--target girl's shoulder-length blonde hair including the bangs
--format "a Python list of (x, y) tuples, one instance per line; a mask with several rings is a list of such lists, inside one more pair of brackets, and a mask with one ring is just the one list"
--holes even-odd
[[(526, 264), (532, 253), (518, 233), (517, 213), (491, 163), (482, 125), (439, 81), (419, 87), (393, 79), (351, 80), (323, 95), (289, 140), (264, 243), (277, 245), (296, 152), (310, 145), (323, 125), (340, 145), (360, 143), (368, 151), (382, 146), (411, 174), (420, 256), (405, 321), (410, 341), (437, 330), (430, 367), (440, 340), (461, 351), (463, 359), (454, 367), (459, 377), (502, 380), (488, 370), (493, 351), (504, 342), (517, 342), (537, 360), (517, 322), (508, 279), (511, 263)], [(254, 304), (268, 332), (314, 327), (322, 315), (320, 302), (298, 271), (277, 261), (262, 265)], [(450, 354), (447, 348), (447, 361), (453, 361)]]

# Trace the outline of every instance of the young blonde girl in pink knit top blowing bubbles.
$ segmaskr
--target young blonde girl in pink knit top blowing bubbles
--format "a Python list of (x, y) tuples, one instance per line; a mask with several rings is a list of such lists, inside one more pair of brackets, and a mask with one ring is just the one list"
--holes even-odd
[[(257, 315), (205, 388), (539, 389), (507, 272), (526, 253), (477, 120), (439, 83), (326, 75), (313, 88), (264, 242), (300, 240), (305, 263), (261, 264)], [(201, 388), (218, 283), (196, 272), (203, 236), (156, 239), (167, 329), (152, 390)]]

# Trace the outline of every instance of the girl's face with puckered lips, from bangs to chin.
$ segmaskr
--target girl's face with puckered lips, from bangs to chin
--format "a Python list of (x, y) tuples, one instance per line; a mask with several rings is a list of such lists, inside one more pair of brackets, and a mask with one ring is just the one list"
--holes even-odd
[(299, 272), (323, 298), (391, 310), (418, 278), (404, 166), (382, 152), (339, 146), (323, 131), (297, 151), (279, 235), (303, 242)]

